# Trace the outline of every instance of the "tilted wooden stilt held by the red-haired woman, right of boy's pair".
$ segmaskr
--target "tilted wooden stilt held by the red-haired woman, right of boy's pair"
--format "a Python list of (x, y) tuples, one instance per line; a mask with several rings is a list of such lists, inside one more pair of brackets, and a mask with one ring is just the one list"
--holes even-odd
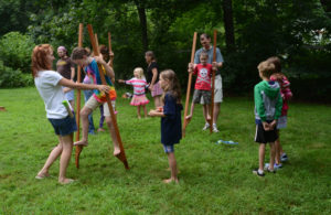
[[(92, 43), (93, 53), (94, 53), (95, 56), (98, 56), (99, 55), (99, 49), (96, 44), (95, 35), (93, 33), (93, 28), (92, 28), (90, 24), (87, 24), (87, 31), (88, 31), (89, 40), (90, 40), (90, 43)], [(99, 69), (99, 75), (100, 75), (103, 85), (107, 85), (103, 67), (99, 64), (98, 64), (98, 69)], [(109, 108), (109, 111), (110, 111), (111, 123), (113, 123), (113, 127), (115, 129), (116, 139), (118, 141), (119, 149), (120, 149), (120, 153), (116, 157), (124, 163), (126, 169), (129, 169), (129, 164), (128, 164), (128, 161), (127, 161), (127, 158), (126, 158), (125, 149), (122, 147), (121, 138), (120, 138), (120, 135), (119, 135), (116, 116), (114, 114), (114, 109), (113, 109), (111, 101), (110, 101), (108, 93), (106, 93), (106, 98), (107, 98), (107, 104), (108, 104), (108, 108)]]

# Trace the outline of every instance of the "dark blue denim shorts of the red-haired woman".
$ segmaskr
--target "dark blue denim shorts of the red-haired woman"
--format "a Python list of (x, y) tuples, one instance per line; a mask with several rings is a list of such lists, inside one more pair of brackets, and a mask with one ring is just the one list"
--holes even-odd
[(77, 130), (75, 117), (67, 116), (63, 119), (49, 119), (57, 136), (68, 136)]

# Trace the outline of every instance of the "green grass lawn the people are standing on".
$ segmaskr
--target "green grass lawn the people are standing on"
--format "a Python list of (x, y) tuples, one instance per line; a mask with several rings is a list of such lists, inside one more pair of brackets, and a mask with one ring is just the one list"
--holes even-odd
[[(34, 179), (57, 143), (36, 89), (1, 89), (0, 106), (8, 110), (0, 112), (0, 214), (331, 213), (330, 106), (290, 104), (281, 131), (289, 161), (264, 179), (252, 174), (258, 165), (253, 100), (225, 98), (221, 132), (213, 135), (202, 131), (197, 106), (175, 147), (179, 185), (162, 183), (170, 172), (160, 119), (138, 120), (129, 100), (118, 98), (117, 110), (131, 169), (111, 155), (108, 131), (89, 136), (79, 169), (73, 152), (67, 176), (78, 181), (70, 185), (57, 183), (58, 161), (53, 178)], [(95, 126), (98, 117), (96, 111)], [(218, 139), (239, 144), (215, 144)]]

